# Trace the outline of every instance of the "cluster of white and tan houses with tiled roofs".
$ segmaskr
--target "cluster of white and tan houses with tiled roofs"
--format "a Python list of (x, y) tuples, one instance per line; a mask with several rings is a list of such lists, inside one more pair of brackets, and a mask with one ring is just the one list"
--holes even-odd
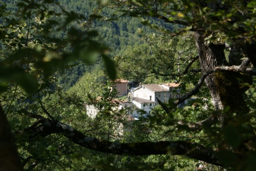
[[(131, 85), (131, 83), (130, 83)], [(139, 118), (141, 110), (144, 115), (149, 115), (151, 110), (161, 102), (168, 102), (169, 98), (180, 97), (179, 83), (162, 83), (162, 84), (139, 84), (137, 87), (129, 88), (129, 81), (118, 79), (113, 83), (113, 88), (117, 90), (117, 97), (126, 96), (127, 100), (115, 99), (113, 102), (118, 104), (119, 109), (134, 106), (134, 110), (130, 113), (132, 118)], [(93, 105), (86, 106), (87, 115), (94, 118), (98, 110)]]

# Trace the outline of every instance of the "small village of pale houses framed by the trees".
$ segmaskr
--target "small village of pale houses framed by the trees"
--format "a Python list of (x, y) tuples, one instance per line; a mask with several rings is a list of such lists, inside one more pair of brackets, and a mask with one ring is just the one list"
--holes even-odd
[[(168, 103), (169, 99), (176, 99), (181, 97), (180, 83), (161, 83), (161, 84), (141, 84), (133, 87), (134, 82), (129, 82), (124, 79), (116, 79), (113, 83), (112, 90), (115, 89), (117, 94), (116, 98), (112, 99), (111, 103), (114, 106), (112, 111), (128, 111), (128, 115), (117, 117), (116, 120), (122, 119), (121, 125), (116, 134), (123, 135), (126, 130), (129, 130), (132, 122), (140, 120), (141, 117), (147, 118), (151, 115), (151, 111), (158, 105), (158, 100), (163, 103)], [(121, 97), (125, 97), (127, 100), (121, 100)], [(94, 119), (98, 113), (102, 110), (102, 106), (98, 106), (102, 97), (98, 97), (94, 104), (86, 104), (87, 115)], [(157, 100), (158, 99), (158, 100)], [(193, 100), (191, 98), (189, 100)], [(189, 100), (186, 100), (177, 107), (184, 107)], [(125, 118), (125, 119), (124, 119)]]

